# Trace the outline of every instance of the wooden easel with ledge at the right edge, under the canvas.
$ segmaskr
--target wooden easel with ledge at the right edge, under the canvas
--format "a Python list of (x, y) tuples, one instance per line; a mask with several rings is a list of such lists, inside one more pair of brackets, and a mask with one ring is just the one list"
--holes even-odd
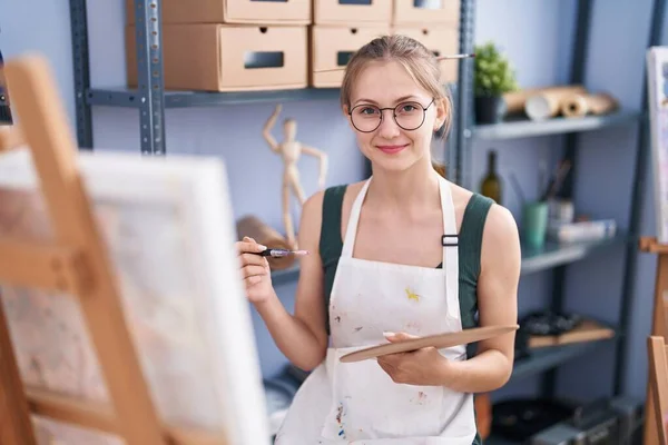
[[(641, 251), (658, 254), (657, 275), (655, 279), (655, 300), (650, 337), (660, 337), (668, 340), (668, 300), (664, 293), (668, 293), (668, 245), (661, 245), (654, 237), (641, 237), (639, 248)], [(667, 294), (668, 295), (668, 294)], [(647, 383), (647, 399), (645, 400), (645, 445), (667, 445), (661, 443), (655, 416), (655, 394), (651, 384), (651, 372)]]

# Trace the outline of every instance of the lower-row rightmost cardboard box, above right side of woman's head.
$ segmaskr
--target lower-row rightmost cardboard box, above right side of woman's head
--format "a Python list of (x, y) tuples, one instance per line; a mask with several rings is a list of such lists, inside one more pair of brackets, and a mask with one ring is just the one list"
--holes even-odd
[[(459, 28), (450, 26), (436, 26), (432, 28), (394, 27), (394, 34), (411, 37), (426, 48), (436, 57), (459, 53)], [(441, 80), (443, 82), (455, 82), (459, 78), (459, 60), (441, 60)]]

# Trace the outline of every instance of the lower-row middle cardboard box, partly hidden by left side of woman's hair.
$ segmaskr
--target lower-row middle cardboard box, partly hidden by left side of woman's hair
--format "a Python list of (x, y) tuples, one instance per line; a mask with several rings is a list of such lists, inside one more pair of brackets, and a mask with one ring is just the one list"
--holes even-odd
[(344, 70), (315, 72), (345, 68), (357, 49), (376, 37), (391, 32), (389, 26), (344, 28), (332, 26), (311, 27), (311, 86), (318, 88), (341, 87)]

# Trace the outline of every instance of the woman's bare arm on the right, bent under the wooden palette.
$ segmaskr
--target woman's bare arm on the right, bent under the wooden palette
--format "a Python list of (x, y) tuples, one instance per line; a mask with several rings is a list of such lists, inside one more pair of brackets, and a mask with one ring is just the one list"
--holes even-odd
[[(481, 271), (478, 279), (480, 325), (518, 323), (518, 287), (521, 249), (515, 221), (508, 209), (493, 205), (482, 237)], [(448, 386), (464, 393), (487, 393), (503, 386), (514, 360), (514, 333), (478, 344), (478, 354), (452, 367)], [(454, 373), (452, 373), (454, 370)]]

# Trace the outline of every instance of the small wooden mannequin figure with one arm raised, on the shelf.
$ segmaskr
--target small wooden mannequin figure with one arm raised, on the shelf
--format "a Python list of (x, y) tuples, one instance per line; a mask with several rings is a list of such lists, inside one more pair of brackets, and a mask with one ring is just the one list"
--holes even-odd
[(299, 160), (302, 154), (310, 155), (320, 159), (320, 175), (317, 185), (320, 188), (323, 188), (325, 186), (325, 178), (327, 175), (327, 155), (316, 148), (306, 146), (296, 140), (297, 122), (294, 119), (289, 118), (285, 119), (285, 121), (283, 122), (283, 141), (276, 142), (276, 139), (274, 139), (271, 131), (274, 125), (276, 123), (276, 119), (278, 118), (278, 113), (281, 113), (281, 110), (282, 106), (281, 103), (278, 103), (263, 128), (263, 136), (269, 145), (269, 147), (272, 148), (272, 151), (281, 155), (281, 157), (283, 158), (283, 224), (285, 226), (285, 237), (287, 239), (287, 243), (289, 243), (293, 246), (293, 248), (297, 248), (295, 228), (289, 212), (291, 189), (297, 198), (297, 200), (299, 201), (299, 206), (303, 206), (304, 201), (306, 200), (304, 189), (302, 188), (299, 181), (299, 170), (297, 168), (297, 161)]

